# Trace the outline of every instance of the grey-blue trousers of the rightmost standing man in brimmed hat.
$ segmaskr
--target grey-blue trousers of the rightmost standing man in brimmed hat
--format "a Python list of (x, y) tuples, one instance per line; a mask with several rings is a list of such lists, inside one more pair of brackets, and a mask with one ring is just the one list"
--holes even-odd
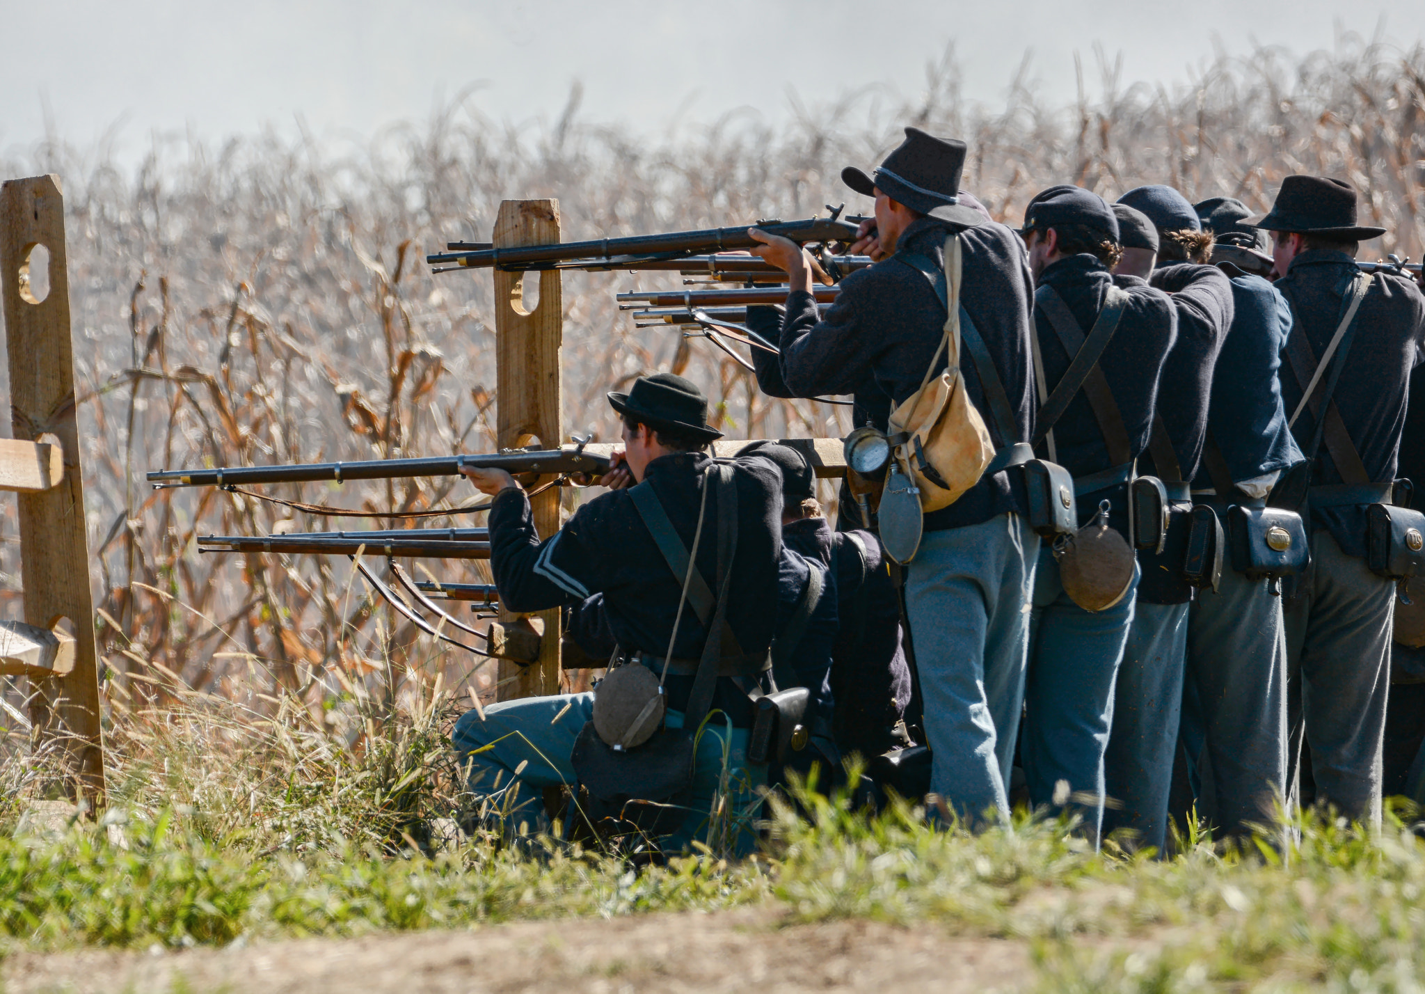
[(1295, 782), (1304, 733), (1317, 800), (1378, 826), (1395, 583), (1341, 552), (1327, 531), (1311, 536), (1304, 579), (1284, 606), (1290, 776)]

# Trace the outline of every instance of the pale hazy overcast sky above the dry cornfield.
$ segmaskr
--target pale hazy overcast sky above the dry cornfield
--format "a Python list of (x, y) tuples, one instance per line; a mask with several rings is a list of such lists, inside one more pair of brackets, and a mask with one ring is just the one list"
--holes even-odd
[(0, 0), (0, 148), (56, 131), (80, 145), (115, 128), (123, 158), (151, 135), (221, 138), (301, 116), (321, 137), (369, 135), (482, 83), (497, 120), (559, 114), (576, 80), (586, 121), (658, 131), (680, 114), (754, 107), (775, 121), (802, 100), (884, 84), (922, 87), (955, 43), (970, 97), (1003, 98), (1033, 53), (1046, 96), (1073, 97), (1073, 57), (1124, 58), (1124, 81), (1186, 81), (1214, 46), (1297, 54), (1349, 29), (1408, 47), (1425, 1), (1193, 0)]

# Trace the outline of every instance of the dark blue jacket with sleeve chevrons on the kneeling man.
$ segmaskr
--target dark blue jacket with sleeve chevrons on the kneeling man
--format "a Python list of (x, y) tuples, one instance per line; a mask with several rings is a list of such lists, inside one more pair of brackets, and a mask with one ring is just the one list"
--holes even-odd
[[(685, 548), (693, 548), (698, 518), (698, 478), (708, 463), (703, 454), (680, 452), (648, 463), (644, 483), (653, 486)], [(742, 652), (762, 652), (777, 626), (782, 585), (782, 472), (755, 454), (735, 461), (737, 552), (727, 610), (728, 625)], [(708, 495), (707, 521), (697, 566), (708, 586), (717, 582), (717, 491)], [(708, 528), (708, 523), (714, 523)], [(683, 595), (683, 578), (674, 576), (643, 523), (627, 491), (594, 498), (559, 532), (540, 540), (534, 532), (529, 498), (523, 491), (500, 491), (490, 506), (490, 570), (509, 610), (543, 610), (604, 595), (608, 632), (624, 652), (663, 656)], [(795, 568), (792, 568), (795, 572)], [(805, 565), (802, 565), (805, 570)], [(801, 575), (805, 575), (804, 572)], [(715, 590), (715, 588), (714, 588)], [(835, 599), (832, 599), (835, 610)], [(834, 637), (834, 636), (832, 636)], [(673, 655), (697, 659), (707, 629), (693, 610), (683, 612)], [(593, 649), (586, 646), (586, 649)], [(828, 646), (829, 657), (829, 646)], [(683, 709), (691, 676), (670, 676), (668, 704)], [(728, 679), (720, 679), (714, 706), (742, 720), (747, 696)]]

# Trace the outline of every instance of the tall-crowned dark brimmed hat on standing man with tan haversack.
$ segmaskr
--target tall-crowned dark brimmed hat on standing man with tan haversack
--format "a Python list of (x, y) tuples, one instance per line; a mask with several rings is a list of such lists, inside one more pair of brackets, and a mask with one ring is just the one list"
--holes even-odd
[(921, 128), (906, 128), (905, 141), (881, 165), (869, 174), (848, 165), (841, 171), (841, 181), (858, 194), (875, 197), (879, 188), (912, 211), (973, 228), (985, 224), (985, 214), (959, 203), (965, 151), (963, 141), (936, 138)]

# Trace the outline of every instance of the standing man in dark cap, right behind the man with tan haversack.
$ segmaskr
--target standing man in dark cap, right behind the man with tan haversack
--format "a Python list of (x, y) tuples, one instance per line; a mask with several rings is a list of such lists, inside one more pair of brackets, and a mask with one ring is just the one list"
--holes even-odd
[[(1173, 305), (1143, 280), (1113, 275), (1119, 222), (1097, 194), (1045, 190), (1025, 208), (1023, 237), (1037, 287), (1042, 396), (1057, 389), (1100, 321), (1117, 321), (1063, 415), (1049, 425), (1040, 409), (1036, 438), (1043, 439), (1042, 456), (1073, 473), (1080, 523), (1109, 501), (1109, 522), (1127, 539), (1129, 485), (1153, 429), (1160, 371), (1176, 335)], [(1054, 803), (1059, 784), (1067, 784), (1094, 839), (1136, 585), (1137, 576), (1117, 603), (1089, 612), (1064, 592), (1053, 552), (1046, 548), (1039, 556), (1020, 759), (1033, 804)]]

